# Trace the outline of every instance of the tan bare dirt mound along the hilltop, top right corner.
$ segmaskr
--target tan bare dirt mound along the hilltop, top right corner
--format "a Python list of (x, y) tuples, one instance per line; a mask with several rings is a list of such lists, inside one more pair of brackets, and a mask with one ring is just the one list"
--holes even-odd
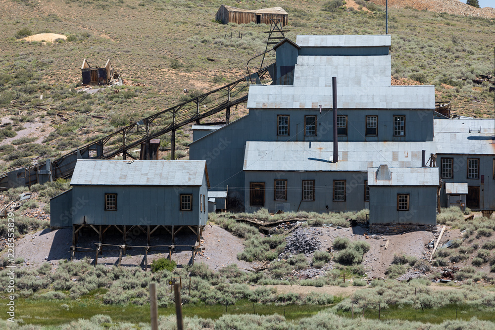
[[(385, 6), (385, 0), (370, 0)], [(495, 18), (495, 9), (491, 7), (475, 8), (459, 0), (388, 0), (389, 7), (414, 8), (434, 12), (446, 12), (454, 15)]]

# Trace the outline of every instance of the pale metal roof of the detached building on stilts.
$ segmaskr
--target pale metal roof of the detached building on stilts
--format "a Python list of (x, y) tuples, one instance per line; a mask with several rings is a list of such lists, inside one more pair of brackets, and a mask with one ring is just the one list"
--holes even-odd
[(201, 186), (205, 160), (78, 159), (72, 186)]

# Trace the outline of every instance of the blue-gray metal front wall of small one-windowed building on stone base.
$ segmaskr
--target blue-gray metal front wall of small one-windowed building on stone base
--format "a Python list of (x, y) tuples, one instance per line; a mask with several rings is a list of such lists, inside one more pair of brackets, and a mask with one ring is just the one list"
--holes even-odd
[[(409, 194), (409, 211), (397, 211), (397, 194)], [(437, 187), (370, 186), (370, 225), (437, 224)]]

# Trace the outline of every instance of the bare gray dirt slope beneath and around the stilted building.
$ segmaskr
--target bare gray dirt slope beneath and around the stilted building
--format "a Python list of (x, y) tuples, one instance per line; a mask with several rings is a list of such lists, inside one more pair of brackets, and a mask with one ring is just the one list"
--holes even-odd
[[(95, 243), (98, 242), (98, 236), (95, 232), (85, 231), (85, 237), (79, 236), (79, 247), (94, 249)], [(218, 270), (230, 264), (237, 264), (240, 268), (250, 269), (251, 263), (237, 260), (237, 253), (244, 249), (242, 239), (233, 236), (226, 230), (218, 226), (206, 226), (203, 231), (204, 241), (202, 246), (204, 252), (197, 254), (195, 262), (204, 262), (211, 269)], [(183, 267), (192, 262), (192, 251), (189, 246), (194, 245), (196, 236), (194, 235), (178, 235), (176, 237), (176, 250), (172, 253), (172, 260), (177, 262), (179, 267)], [(122, 236), (117, 233), (105, 235), (103, 243), (121, 245), (123, 244)], [(150, 245), (168, 245), (171, 243), (171, 237), (165, 234), (151, 235)], [(137, 232), (135, 235), (131, 233), (127, 239), (128, 247), (126, 253), (122, 255), (121, 264), (124, 266), (141, 266), (144, 267), (144, 250), (143, 246), (147, 245), (146, 235)], [(16, 246), (16, 256), (24, 258), (26, 266), (39, 267), (45, 261), (50, 262), (53, 266), (61, 260), (70, 259), (70, 246), (72, 245), (72, 229), (45, 229), (26, 235), (19, 239)], [(81, 251), (84, 251), (81, 249)], [(95, 259), (96, 252), (77, 252), (76, 260), (81, 260), (84, 257), (89, 257), (92, 261)], [(104, 246), (103, 255), (99, 255), (98, 263), (104, 265), (116, 265), (119, 256), (118, 246)], [(151, 248), (148, 252), (148, 265), (158, 258), (168, 257), (168, 248)]]

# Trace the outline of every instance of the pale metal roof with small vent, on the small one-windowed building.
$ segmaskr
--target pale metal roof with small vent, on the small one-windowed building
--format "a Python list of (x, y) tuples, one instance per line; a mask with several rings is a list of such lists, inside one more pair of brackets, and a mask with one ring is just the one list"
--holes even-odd
[(390, 179), (381, 176), (383, 168), (368, 168), (368, 186), (438, 186), (438, 167), (388, 168)]

